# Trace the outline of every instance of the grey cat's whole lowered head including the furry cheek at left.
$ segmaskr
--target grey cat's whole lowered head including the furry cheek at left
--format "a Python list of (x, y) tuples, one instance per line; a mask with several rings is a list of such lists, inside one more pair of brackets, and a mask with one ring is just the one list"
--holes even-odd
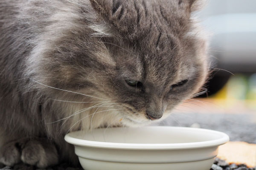
[(198, 2), (90, 0), (80, 27), (59, 42), (68, 62), (58, 85), (117, 103), (125, 125), (166, 117), (208, 74), (207, 42), (191, 17)]

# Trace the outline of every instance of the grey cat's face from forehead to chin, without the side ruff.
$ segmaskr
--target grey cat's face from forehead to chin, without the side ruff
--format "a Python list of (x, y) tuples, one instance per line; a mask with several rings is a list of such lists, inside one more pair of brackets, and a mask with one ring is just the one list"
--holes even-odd
[(124, 109), (125, 125), (166, 117), (200, 90), (208, 65), (206, 42), (192, 29), (194, 0), (91, 3), (111, 31), (105, 33), (110, 37), (98, 37), (102, 46), (96, 58), (105, 64), (88, 81)]

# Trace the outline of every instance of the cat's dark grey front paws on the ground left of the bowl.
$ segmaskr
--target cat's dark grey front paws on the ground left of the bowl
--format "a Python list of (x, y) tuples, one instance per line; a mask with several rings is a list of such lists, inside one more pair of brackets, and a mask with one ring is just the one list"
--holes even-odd
[(47, 139), (20, 139), (3, 145), (0, 151), (1, 163), (13, 166), (20, 161), (45, 168), (58, 164), (58, 152)]

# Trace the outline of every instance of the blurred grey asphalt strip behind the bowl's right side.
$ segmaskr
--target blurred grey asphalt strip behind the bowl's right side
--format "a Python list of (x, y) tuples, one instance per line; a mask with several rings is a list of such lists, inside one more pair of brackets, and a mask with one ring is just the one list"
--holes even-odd
[(175, 113), (160, 125), (218, 130), (227, 133), (230, 141), (256, 143), (256, 114)]

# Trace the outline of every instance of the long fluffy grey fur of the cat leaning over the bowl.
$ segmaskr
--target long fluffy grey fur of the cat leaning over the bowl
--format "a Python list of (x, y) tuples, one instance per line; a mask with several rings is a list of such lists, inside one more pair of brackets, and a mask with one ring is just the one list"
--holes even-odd
[(198, 4), (1, 0), (0, 162), (76, 164), (68, 131), (168, 116), (207, 77), (207, 42), (191, 17)]

